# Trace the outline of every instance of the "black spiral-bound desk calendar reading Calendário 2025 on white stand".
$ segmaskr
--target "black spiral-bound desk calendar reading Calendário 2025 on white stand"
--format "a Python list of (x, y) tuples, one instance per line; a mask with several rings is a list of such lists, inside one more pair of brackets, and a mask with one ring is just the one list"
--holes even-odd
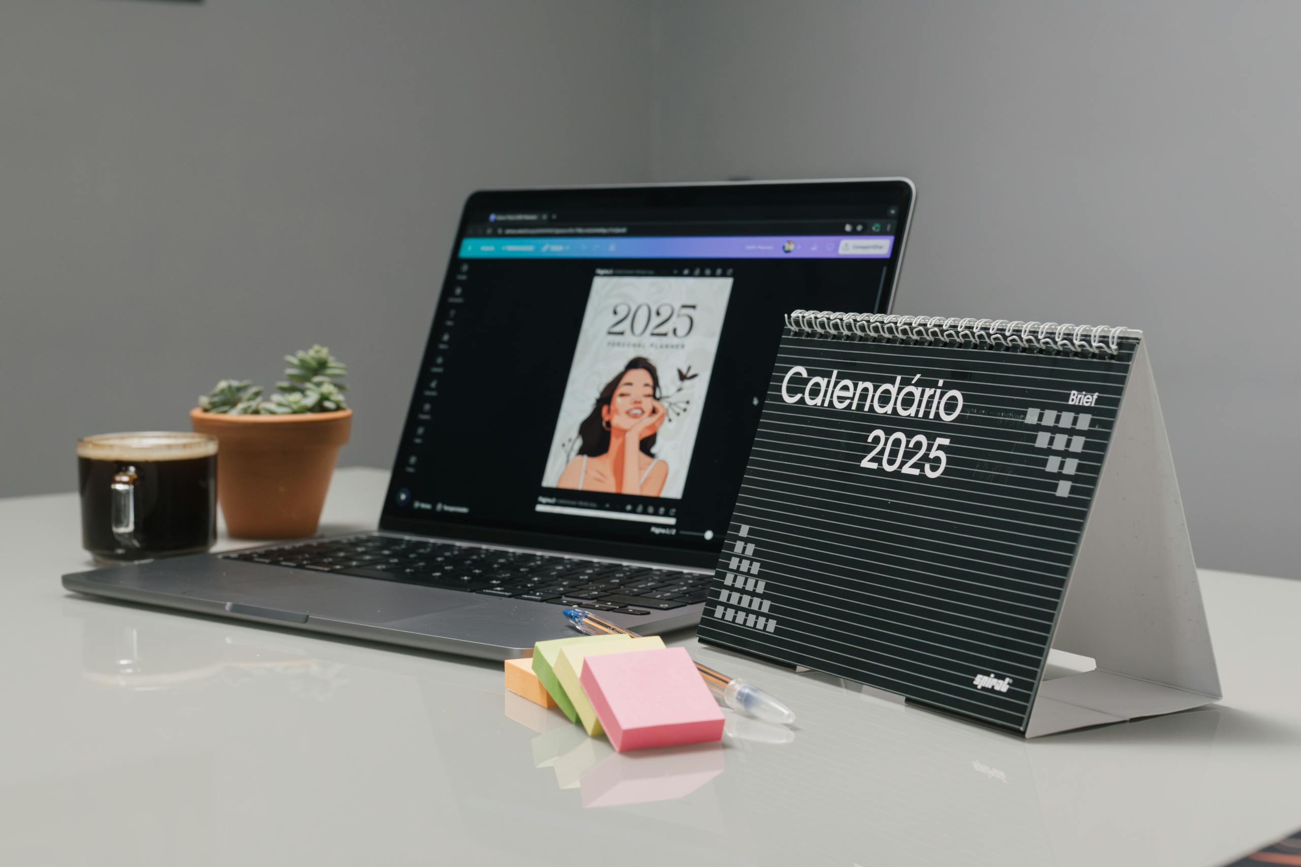
[(791, 313), (699, 636), (1026, 737), (1218, 699), (1142, 334)]

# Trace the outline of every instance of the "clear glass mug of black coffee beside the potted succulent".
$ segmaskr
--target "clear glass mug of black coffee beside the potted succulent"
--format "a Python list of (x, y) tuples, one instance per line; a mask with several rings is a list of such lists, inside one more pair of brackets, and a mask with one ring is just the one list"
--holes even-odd
[(217, 438), (118, 433), (77, 441), (82, 547), (98, 563), (207, 551), (217, 541)]

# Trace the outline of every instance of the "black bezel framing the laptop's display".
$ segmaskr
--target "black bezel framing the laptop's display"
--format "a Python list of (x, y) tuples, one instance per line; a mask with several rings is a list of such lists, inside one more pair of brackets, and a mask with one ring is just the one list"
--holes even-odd
[[(916, 186), (908, 178), (863, 178), (863, 179), (833, 179), (833, 181), (743, 181), (718, 183), (656, 183), (639, 186), (588, 186), (588, 187), (530, 187), (518, 190), (480, 190), (472, 192), (461, 209), (461, 220), (457, 224), (457, 234), (453, 239), (451, 253), (448, 257), (446, 270), (440, 285), (438, 303), (435, 309), (433, 322), (444, 312), (446, 299), (442, 290), (453, 281), (461, 240), (466, 234), (466, 227), (474, 213), (484, 209), (511, 211), (528, 209), (530, 207), (566, 207), (580, 205), (583, 208), (636, 208), (647, 205), (744, 205), (762, 203), (768, 207), (779, 208), (782, 199), (788, 203), (817, 204), (820, 199), (830, 200), (843, 196), (846, 192), (870, 192), (872, 198), (892, 195), (898, 200), (891, 204), (899, 205), (899, 231), (895, 235), (898, 243), (891, 251), (886, 265), (886, 279), (882, 296), (882, 309), (889, 313), (894, 307), (895, 287), (899, 282), (899, 266), (903, 263), (904, 250), (908, 244), (908, 234), (912, 229), (912, 212), (916, 203)], [(792, 302), (794, 308), (794, 302)], [(431, 330), (433, 325), (431, 324)], [(419, 391), (419, 376), (412, 386), (412, 399), (409, 402), (407, 412), (415, 403), (415, 394)], [(403, 425), (405, 429), (405, 425)], [(398, 472), (401, 460), (401, 442), (393, 459), (390, 469), (390, 487), (393, 473)], [(647, 563), (665, 563), (683, 565), (688, 568), (712, 568), (718, 559), (717, 551), (699, 551), (675, 547), (667, 539), (658, 545), (637, 545), (635, 542), (610, 541), (596, 537), (570, 536), (558, 533), (539, 533), (533, 530), (515, 530), (501, 526), (485, 526), (466, 523), (438, 521), (436, 519), (411, 519), (409, 513), (399, 512), (385, 489), (384, 507), (380, 513), (380, 529), (396, 533), (414, 533), (419, 536), (432, 536), (467, 542), (487, 542), (492, 545), (505, 545), (511, 547), (537, 549), (544, 551), (559, 551), (565, 554), (578, 554), (589, 556), (608, 556), (619, 560), (640, 560)], [(719, 546), (722, 536), (719, 536)]]

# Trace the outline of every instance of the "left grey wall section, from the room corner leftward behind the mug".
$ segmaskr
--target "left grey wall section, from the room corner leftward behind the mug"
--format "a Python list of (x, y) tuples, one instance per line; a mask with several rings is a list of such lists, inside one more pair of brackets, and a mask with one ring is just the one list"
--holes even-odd
[(464, 196), (648, 179), (650, 12), (0, 3), (0, 495), (312, 342), (386, 467)]

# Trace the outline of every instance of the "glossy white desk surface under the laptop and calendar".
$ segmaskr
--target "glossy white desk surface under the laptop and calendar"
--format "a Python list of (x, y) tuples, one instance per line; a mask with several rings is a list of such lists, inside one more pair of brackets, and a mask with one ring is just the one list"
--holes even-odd
[(1026, 742), (679, 637), (794, 740), (617, 755), (500, 666), (69, 595), (77, 510), (0, 500), (3, 864), (1211, 867), (1301, 827), (1301, 582), (1202, 573), (1206, 710)]

